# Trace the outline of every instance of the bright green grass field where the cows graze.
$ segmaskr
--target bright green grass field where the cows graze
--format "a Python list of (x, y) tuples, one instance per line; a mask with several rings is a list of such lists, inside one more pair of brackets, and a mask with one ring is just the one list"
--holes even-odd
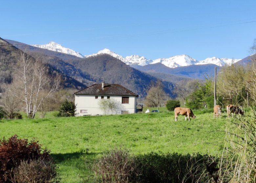
[[(145, 109), (146, 110), (146, 109)], [(152, 108), (150, 108), (150, 111)], [(175, 122), (174, 113), (159, 113), (0, 121), (0, 138), (17, 134), (32, 138), (51, 150), (63, 183), (92, 182), (93, 162), (117, 147), (132, 154), (149, 152), (201, 153), (218, 155), (226, 119), (213, 119), (210, 111), (193, 111), (197, 116)]]

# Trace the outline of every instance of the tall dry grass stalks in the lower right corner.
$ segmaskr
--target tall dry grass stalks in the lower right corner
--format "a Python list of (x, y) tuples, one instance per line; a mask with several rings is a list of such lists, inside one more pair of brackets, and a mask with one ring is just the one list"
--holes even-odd
[(227, 122), (220, 183), (256, 182), (256, 110)]

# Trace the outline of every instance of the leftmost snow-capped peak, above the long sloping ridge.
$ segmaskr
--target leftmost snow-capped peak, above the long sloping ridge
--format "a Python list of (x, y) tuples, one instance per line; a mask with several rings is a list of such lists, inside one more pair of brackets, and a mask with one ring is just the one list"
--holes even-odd
[(56, 52), (61, 52), (61, 53), (66, 53), (69, 55), (74, 55), (76, 57), (80, 57), (80, 58), (84, 58), (84, 56), (70, 48), (65, 48), (63, 46), (61, 46), (60, 44), (57, 44), (56, 42), (49, 42), (48, 44), (34, 44), (32, 46), (38, 47), (38, 48), (44, 48), (47, 50), (51, 50), (51, 51), (56, 51)]

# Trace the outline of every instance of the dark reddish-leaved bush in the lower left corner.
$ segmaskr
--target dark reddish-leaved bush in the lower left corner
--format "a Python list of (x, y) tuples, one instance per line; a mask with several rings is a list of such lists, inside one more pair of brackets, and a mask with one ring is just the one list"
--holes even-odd
[[(0, 182), (9, 183), (15, 171), (22, 161), (31, 162), (40, 158), (45, 161), (52, 161), (50, 151), (42, 150), (38, 141), (18, 139), (17, 135), (0, 140)], [(55, 170), (54, 170), (55, 171)]]

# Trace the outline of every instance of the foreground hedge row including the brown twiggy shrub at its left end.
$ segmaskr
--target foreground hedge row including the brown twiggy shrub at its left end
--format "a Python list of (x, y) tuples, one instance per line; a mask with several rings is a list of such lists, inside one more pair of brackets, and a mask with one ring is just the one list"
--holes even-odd
[(131, 156), (126, 150), (117, 150), (100, 158), (94, 170), (99, 182), (203, 183), (211, 181), (203, 163), (204, 158), (208, 159), (209, 156), (153, 152)]

